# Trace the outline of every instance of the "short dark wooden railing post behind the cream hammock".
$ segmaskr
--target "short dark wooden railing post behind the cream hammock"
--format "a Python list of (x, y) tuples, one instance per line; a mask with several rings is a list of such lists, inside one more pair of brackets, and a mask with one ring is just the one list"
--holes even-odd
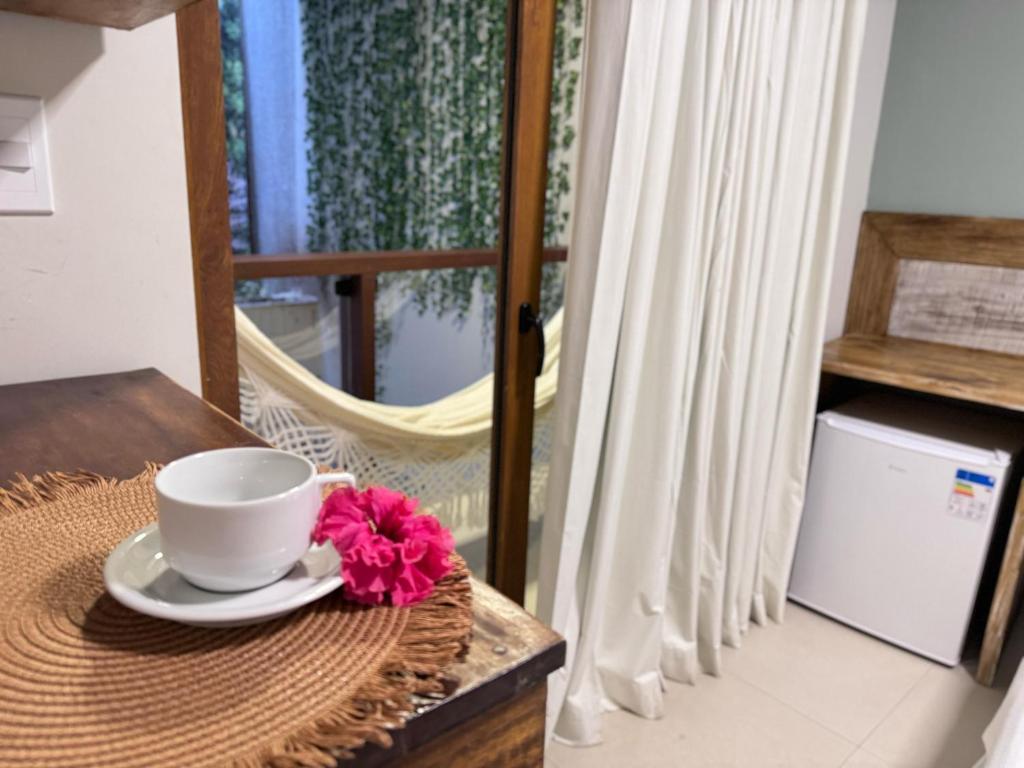
[(350, 274), (338, 282), (341, 297), (341, 388), (365, 400), (377, 394), (377, 274)]

